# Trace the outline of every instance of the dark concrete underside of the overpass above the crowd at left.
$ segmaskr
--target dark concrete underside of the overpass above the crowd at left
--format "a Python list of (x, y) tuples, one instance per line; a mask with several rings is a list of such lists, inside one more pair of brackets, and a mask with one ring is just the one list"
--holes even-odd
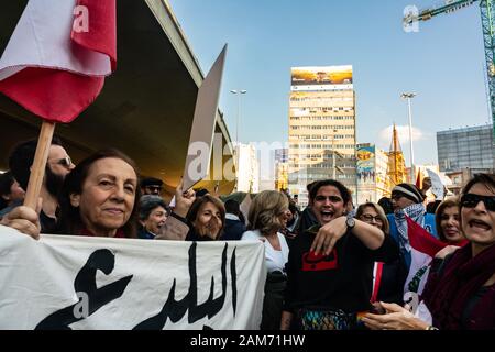
[[(1, 53), (26, 3), (2, 4)], [(97, 100), (70, 124), (57, 124), (55, 133), (76, 162), (99, 148), (117, 147), (136, 161), (143, 175), (163, 179), (170, 193), (184, 172), (202, 80), (199, 64), (166, 1), (119, 0), (117, 70), (106, 79)], [(13, 145), (37, 138), (40, 124), (37, 117), (0, 95), (0, 169), (7, 169)], [(220, 111), (216, 132), (221, 133), (222, 145), (229, 144)], [(202, 182), (201, 186), (213, 190), (216, 184)], [(233, 187), (234, 182), (222, 179), (219, 193), (229, 194)]]

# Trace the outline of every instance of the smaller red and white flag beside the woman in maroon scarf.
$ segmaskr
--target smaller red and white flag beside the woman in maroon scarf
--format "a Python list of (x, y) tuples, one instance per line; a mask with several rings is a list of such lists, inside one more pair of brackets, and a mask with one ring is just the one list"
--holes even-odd
[[(407, 235), (409, 238), (411, 263), (404, 292), (421, 295), (428, 278), (430, 263), (435, 255), (448, 244), (437, 240), (406, 216)], [(405, 295), (405, 296), (406, 296)]]

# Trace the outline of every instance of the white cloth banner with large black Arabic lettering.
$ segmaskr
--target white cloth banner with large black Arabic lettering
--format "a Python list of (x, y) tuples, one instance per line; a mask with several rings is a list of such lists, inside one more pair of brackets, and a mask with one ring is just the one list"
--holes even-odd
[(42, 235), (0, 226), (0, 330), (258, 329), (263, 243)]

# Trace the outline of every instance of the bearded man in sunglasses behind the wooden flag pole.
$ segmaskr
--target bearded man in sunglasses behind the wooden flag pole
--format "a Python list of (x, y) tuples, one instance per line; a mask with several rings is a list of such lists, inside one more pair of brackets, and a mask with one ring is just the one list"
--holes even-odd
[[(37, 140), (23, 142), (13, 148), (9, 157), (9, 167), (23, 189), (28, 189), (36, 145)], [(43, 178), (40, 190), (40, 198), (42, 198), (42, 208), (40, 211), (42, 232), (47, 233), (55, 228), (58, 190), (62, 188), (65, 176), (74, 167), (75, 165), (68, 156), (67, 151), (62, 146), (61, 140), (54, 138), (50, 146), (45, 177)]]

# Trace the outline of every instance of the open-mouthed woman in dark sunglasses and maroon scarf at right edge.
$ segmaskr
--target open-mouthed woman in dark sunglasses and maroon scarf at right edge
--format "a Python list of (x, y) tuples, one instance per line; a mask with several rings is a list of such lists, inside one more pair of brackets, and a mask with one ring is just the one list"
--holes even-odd
[(495, 175), (477, 174), (460, 202), (461, 229), (469, 244), (448, 255), (430, 273), (422, 304), (431, 319), (420, 320), (398, 305), (367, 315), (371, 329), (493, 330), (495, 328)]

